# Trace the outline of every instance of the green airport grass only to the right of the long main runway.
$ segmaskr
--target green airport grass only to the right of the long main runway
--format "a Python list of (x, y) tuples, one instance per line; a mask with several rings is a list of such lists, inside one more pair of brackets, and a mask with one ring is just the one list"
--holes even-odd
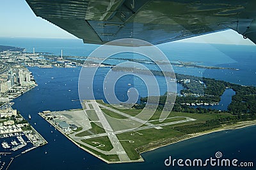
[[(106, 105), (106, 104), (105, 104)], [(141, 112), (139, 109), (118, 109), (115, 107), (112, 107), (108, 105), (108, 107), (111, 107), (113, 109), (116, 109), (117, 111), (124, 112), (126, 114), (129, 114), (131, 116), (136, 116)], [(113, 118), (125, 118), (122, 115), (117, 114), (116, 112), (109, 111), (108, 109), (102, 109), (106, 114)], [(159, 117), (161, 115), (161, 111), (156, 111), (152, 118), (150, 120), (150, 123), (157, 125), (159, 124)], [(136, 132), (126, 132), (123, 134), (118, 134), (118, 139), (120, 139), (120, 143), (124, 147), (125, 151), (127, 152), (129, 158), (131, 160), (137, 160), (140, 158), (140, 151), (147, 150), (147, 148), (154, 148), (157, 147), (161, 144), (168, 144), (177, 141), (180, 137), (185, 137), (188, 134), (185, 134), (183, 132), (179, 132), (178, 130), (173, 129), (173, 127), (179, 127), (183, 125), (193, 125), (195, 123), (205, 123), (207, 120), (213, 120), (217, 118), (223, 118), (227, 116), (232, 116), (231, 114), (228, 113), (214, 113), (214, 112), (209, 112), (207, 114), (196, 114), (196, 113), (188, 113), (188, 112), (171, 112), (168, 118), (161, 123), (168, 123), (172, 121), (180, 121), (180, 120), (186, 120), (186, 118), (172, 118), (175, 116), (184, 116), (184, 117), (189, 117), (193, 118), (196, 121), (189, 121), (186, 123), (179, 123), (177, 125), (168, 125), (163, 127), (163, 129), (155, 129), (155, 128), (149, 128), (146, 130), (138, 130)], [(131, 140), (134, 141), (134, 143), (129, 143)]]

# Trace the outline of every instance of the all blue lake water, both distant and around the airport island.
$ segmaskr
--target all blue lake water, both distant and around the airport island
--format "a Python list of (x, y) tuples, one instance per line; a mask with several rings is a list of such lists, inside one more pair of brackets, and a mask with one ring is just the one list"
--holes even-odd
[[(80, 40), (30, 38), (0, 38), (0, 44), (25, 47), (30, 52), (35, 47), (36, 51), (52, 52), (57, 55), (60, 55), (60, 50), (63, 49), (64, 54), (70, 56), (87, 56), (93, 48), (97, 47), (95, 45), (84, 45)], [(199, 64), (239, 68), (239, 70), (205, 70), (173, 66), (175, 72), (256, 86), (255, 46), (191, 43), (170, 43), (170, 45), (168, 47), (159, 45), (159, 48), (163, 49), (170, 61), (202, 62)], [(15, 158), (9, 169), (187, 169), (185, 167), (165, 167), (164, 160), (170, 155), (173, 158), (184, 159), (209, 158), (214, 157), (216, 151), (221, 151), (225, 158), (237, 158), (240, 161), (256, 164), (256, 149), (254, 147), (256, 127), (216, 132), (149, 151), (142, 154), (145, 162), (141, 163), (109, 165), (102, 162), (68, 141), (66, 137), (54, 130), (49, 123), (37, 114), (45, 110), (63, 111), (81, 108), (79, 102), (72, 102), (72, 100), (78, 99), (79, 69), (29, 68), (33, 72), (38, 86), (16, 98), (13, 108), (18, 109), (24, 118), (28, 118), (28, 114), (31, 114), (31, 124), (49, 144)], [(107, 68), (102, 68), (102, 75), (106, 71), (104, 69)], [(124, 94), (124, 99), (129, 79), (125, 79), (125, 81), (127, 82), (120, 82), (119, 85), (116, 85), (124, 88), (116, 91), (118, 95)], [(161, 81), (161, 78), (159, 78), (159, 81)], [(97, 83), (95, 86), (97, 86)], [(116, 88), (116, 90), (118, 89)], [(100, 92), (97, 95), (98, 97), (102, 97)], [(47, 154), (45, 154), (45, 151), (47, 151)], [(207, 168), (211, 169), (211, 167)]]

